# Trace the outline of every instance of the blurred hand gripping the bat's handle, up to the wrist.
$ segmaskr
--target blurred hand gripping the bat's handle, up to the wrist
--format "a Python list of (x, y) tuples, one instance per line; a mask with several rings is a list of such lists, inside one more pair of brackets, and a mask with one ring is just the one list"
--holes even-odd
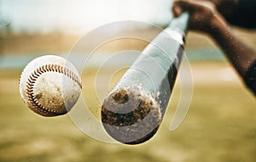
[(214, 3), (202, 0), (174, 0), (172, 12), (178, 17), (184, 11), (190, 14), (189, 30), (212, 34), (219, 24), (225, 23)]

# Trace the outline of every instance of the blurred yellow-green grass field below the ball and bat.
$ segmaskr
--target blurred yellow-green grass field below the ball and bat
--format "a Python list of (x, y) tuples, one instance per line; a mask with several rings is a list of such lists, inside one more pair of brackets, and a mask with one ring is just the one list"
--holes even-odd
[[(93, 81), (93, 74), (86, 78)], [(241, 84), (195, 82), (188, 115), (176, 131), (169, 131), (179, 100), (177, 85), (157, 134), (148, 142), (127, 146), (86, 136), (68, 115), (45, 118), (34, 114), (21, 101), (19, 76), (20, 70), (0, 70), (0, 161), (256, 161), (256, 103)], [(93, 87), (84, 91), (94, 96)], [(90, 107), (97, 108), (96, 104)]]

